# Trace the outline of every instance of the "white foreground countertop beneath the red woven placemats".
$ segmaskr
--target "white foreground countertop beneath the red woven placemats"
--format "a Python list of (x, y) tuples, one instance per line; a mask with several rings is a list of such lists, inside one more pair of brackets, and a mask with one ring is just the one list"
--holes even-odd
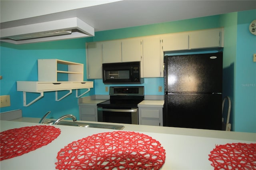
[[(39, 118), (22, 118), (23, 121), (38, 121)], [(1, 132), (12, 128), (20, 128), (38, 123), (0, 121)], [(18, 122), (17, 122), (18, 121)], [(113, 124), (113, 123), (110, 123)], [(124, 130), (136, 131), (158, 140), (166, 150), (165, 164), (163, 170), (170, 169), (213, 169), (208, 160), (210, 151), (216, 144), (234, 142), (255, 143), (256, 133), (228, 132), (218, 130), (202, 130), (187, 128), (155, 127), (145, 125), (126, 125)], [(84, 138), (86, 136), (101, 132), (112, 132), (115, 130), (102, 128), (84, 128), (62, 125), (50, 125), (60, 128), (61, 134), (50, 144), (31, 151), (22, 156), (2, 160), (1, 170), (53, 170), (55, 169), (56, 156), (61, 148), (67, 144)], [(151, 131), (151, 132), (149, 132)], [(157, 132), (161, 131), (161, 133)], [(180, 133), (180, 134), (179, 134)], [(212, 136), (212, 137), (210, 137)]]

